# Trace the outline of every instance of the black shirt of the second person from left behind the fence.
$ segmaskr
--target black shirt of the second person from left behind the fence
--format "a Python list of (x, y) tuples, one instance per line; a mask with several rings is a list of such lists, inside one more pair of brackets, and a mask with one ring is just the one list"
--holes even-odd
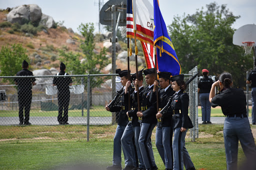
[[(65, 71), (60, 71), (58, 75), (64, 75)], [(66, 74), (69, 75), (69, 74)], [(54, 77), (52, 84), (57, 86), (58, 92), (69, 92), (69, 84), (72, 83), (71, 77)]]

